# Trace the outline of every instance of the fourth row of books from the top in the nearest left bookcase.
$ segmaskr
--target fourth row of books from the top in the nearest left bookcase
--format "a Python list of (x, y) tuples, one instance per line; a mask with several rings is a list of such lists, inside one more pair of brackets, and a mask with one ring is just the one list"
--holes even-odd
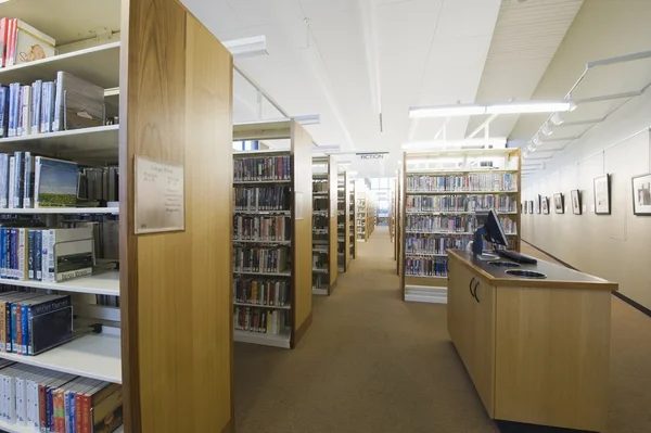
[(1, 279), (60, 282), (92, 275), (93, 265), (91, 227), (0, 227)]

